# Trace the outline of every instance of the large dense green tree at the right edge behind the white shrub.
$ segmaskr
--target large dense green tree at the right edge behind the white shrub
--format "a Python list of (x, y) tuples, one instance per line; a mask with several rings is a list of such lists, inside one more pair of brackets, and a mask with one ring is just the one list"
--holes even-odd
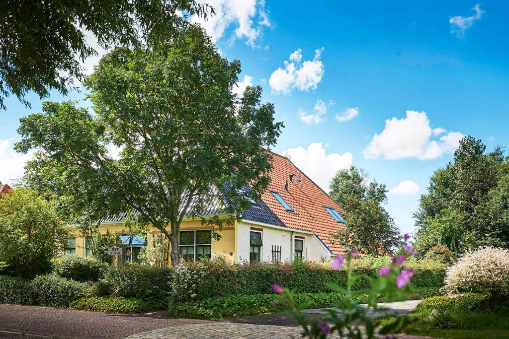
[(507, 246), (508, 168), (500, 147), (487, 152), (481, 140), (464, 137), (454, 160), (435, 171), (420, 197), (414, 213), (418, 249), (443, 244), (463, 253), (478, 245)]

